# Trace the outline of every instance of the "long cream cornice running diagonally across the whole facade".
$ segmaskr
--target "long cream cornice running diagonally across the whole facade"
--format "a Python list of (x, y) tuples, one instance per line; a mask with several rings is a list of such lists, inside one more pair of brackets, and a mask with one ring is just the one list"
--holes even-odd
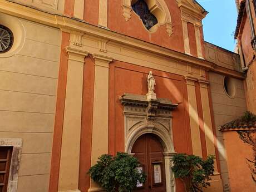
[(58, 14), (42, 12), (37, 9), (25, 7), (20, 4), (4, 0), (0, 0), (0, 12), (28, 19), (30, 21), (46, 24), (48, 26), (60, 28), (62, 31), (65, 32), (78, 32), (90, 35), (92, 37), (100, 37), (105, 40), (118, 43), (120, 46), (126, 45), (129, 47), (139, 48), (140, 50), (144, 50), (149, 53), (155, 53), (159, 56), (165, 56), (172, 60), (184, 62), (198, 67), (203, 67), (205, 68), (205, 70), (208, 71), (216, 71), (236, 78), (244, 78), (243, 73), (239, 73), (232, 70), (226, 70), (225, 68), (221, 68), (212, 62), (205, 61), (203, 59), (196, 58), (193, 56), (189, 56), (185, 53), (169, 50), (168, 48), (157, 46), (149, 42), (144, 42), (136, 38), (122, 35), (120, 33), (110, 31), (106, 28), (93, 26), (79, 19), (61, 16)]

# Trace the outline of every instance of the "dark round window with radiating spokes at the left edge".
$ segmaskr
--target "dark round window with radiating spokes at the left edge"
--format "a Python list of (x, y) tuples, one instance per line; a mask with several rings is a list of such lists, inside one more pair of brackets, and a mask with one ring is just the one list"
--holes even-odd
[(5, 53), (12, 48), (13, 34), (12, 31), (0, 24), (0, 53)]

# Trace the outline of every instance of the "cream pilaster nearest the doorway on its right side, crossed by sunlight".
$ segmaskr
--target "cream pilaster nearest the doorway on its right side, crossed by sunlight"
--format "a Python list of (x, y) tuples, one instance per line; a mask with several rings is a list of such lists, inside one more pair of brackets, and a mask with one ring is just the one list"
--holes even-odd
[(189, 104), (189, 119), (191, 129), (191, 139), (193, 154), (202, 157), (201, 137), (200, 137), (200, 126), (198, 117), (198, 106), (196, 103), (196, 92), (195, 92), (195, 81), (196, 78), (185, 77), (186, 85), (188, 89), (188, 104)]

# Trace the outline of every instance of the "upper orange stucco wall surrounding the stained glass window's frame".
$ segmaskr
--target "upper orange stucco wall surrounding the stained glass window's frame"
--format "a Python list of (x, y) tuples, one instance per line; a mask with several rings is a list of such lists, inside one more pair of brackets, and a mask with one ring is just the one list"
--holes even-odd
[(165, 1), (170, 9), (171, 21), (174, 26), (174, 33), (169, 37), (165, 26), (160, 26), (156, 32), (150, 33), (144, 27), (141, 19), (132, 11), (129, 21), (125, 21), (122, 16), (122, 1), (109, 1), (108, 27), (112, 31), (135, 37), (143, 41), (151, 42), (171, 50), (184, 52), (183, 29), (181, 23), (181, 13), (178, 3), (175, 0)]

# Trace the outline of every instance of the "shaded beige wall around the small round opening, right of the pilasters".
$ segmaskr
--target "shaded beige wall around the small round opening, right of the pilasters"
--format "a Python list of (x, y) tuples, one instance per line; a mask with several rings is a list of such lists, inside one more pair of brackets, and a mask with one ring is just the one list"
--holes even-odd
[(247, 111), (247, 105), (245, 101), (243, 81), (238, 79), (232, 79), (235, 86), (235, 95), (234, 98), (231, 98), (227, 95), (227, 93), (225, 93), (223, 78), (223, 75), (209, 72), (211, 97), (213, 100), (215, 129), (218, 141), (217, 144), (221, 168), (220, 172), (223, 179), (224, 191), (230, 191), (228, 180), (227, 155), (225, 152), (223, 133), (220, 132), (218, 129), (226, 122), (237, 119), (237, 117), (243, 115), (243, 113)]

